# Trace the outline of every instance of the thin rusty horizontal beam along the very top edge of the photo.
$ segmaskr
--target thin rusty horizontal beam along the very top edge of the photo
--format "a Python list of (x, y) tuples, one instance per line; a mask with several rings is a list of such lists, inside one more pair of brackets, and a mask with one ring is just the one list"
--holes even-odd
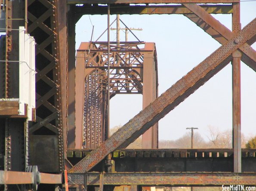
[(67, 0), (68, 4), (234, 3), (240, 0)]

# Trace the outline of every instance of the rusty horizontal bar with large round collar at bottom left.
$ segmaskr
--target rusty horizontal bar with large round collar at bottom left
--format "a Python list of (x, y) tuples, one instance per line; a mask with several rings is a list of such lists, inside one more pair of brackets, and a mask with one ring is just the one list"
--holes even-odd
[(48, 174), (40, 172), (16, 172), (0, 170), (0, 185), (9, 184), (62, 184), (61, 174)]

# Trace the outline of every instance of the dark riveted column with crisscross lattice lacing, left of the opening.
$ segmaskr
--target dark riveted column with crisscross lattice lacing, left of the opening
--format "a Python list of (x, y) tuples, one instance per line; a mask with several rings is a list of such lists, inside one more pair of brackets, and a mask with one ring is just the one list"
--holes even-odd
[[(28, 1), (28, 33), (34, 36), (36, 46), (36, 122), (29, 127), (29, 148), (42, 141), (41, 135), (57, 137), (55, 145), (57, 162), (54, 172), (63, 172), (63, 139), (62, 139), (62, 103), (59, 59), (57, 1)], [(37, 138), (35, 138), (37, 137)], [(38, 158), (40, 149), (33, 152), (32, 158)], [(47, 155), (47, 153), (46, 153)], [(47, 162), (30, 161), (38, 164), (43, 172), (52, 172)], [(40, 166), (46, 168), (42, 168)]]

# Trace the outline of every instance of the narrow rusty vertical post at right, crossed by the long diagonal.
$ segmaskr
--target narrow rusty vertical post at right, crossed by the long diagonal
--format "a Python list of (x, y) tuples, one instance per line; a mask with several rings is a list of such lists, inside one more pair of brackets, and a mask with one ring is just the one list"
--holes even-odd
[[(240, 3), (233, 3), (232, 32), (241, 30)], [(236, 42), (235, 40), (235, 43)], [(241, 173), (241, 52), (234, 51), (232, 61), (234, 173)]]

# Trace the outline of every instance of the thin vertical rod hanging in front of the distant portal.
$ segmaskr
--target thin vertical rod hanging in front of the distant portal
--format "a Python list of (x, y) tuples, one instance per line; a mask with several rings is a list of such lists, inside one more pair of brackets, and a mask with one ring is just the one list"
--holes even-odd
[(110, 125), (110, 4), (108, 4), (108, 126), (106, 128), (107, 137), (109, 137)]

